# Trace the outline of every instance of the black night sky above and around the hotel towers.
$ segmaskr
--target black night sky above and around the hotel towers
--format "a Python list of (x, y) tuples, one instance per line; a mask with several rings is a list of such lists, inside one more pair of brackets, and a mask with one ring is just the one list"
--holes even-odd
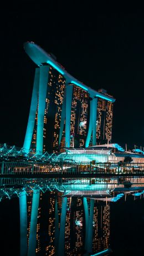
[(33, 41), (75, 78), (116, 98), (112, 142), (144, 147), (141, 8), (39, 2), (1, 7), (0, 143), (23, 145), (36, 67), (23, 43)]

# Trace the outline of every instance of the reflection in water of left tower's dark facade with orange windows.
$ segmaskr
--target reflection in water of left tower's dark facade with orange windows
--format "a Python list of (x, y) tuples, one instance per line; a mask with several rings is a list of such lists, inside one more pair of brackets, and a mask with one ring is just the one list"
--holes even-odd
[[(38, 213), (34, 213), (36, 217), (35, 230), (35, 255), (55, 255), (55, 193), (40, 192), (38, 199)], [(47, 202), (47, 204), (45, 204)], [(33, 192), (27, 197), (27, 244), (28, 255), (31, 255), (33, 240), (30, 241), (30, 232), (33, 233)], [(31, 227), (31, 231), (30, 231)], [(30, 242), (30, 244), (29, 244)], [(29, 246), (30, 245), (30, 246)]]

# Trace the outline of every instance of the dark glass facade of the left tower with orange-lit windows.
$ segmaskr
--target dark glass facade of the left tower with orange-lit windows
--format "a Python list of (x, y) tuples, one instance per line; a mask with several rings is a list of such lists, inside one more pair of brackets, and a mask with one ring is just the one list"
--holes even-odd
[[(43, 152), (58, 152), (61, 110), (64, 100), (65, 78), (54, 68), (49, 68), (48, 88), (45, 99)], [(38, 107), (35, 114), (35, 124), (32, 148), (37, 143)]]

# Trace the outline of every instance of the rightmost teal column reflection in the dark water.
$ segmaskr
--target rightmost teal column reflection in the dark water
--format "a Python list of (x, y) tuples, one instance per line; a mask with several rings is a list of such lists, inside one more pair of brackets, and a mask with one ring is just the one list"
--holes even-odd
[(88, 232), (88, 253), (92, 253), (92, 233), (94, 220), (94, 199), (90, 199), (89, 232)]

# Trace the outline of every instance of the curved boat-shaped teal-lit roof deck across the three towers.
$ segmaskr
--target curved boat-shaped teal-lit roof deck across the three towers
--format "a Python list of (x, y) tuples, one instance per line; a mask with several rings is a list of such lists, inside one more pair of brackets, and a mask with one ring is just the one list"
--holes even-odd
[(42, 66), (43, 64), (49, 64), (66, 78), (67, 83), (75, 84), (76, 86), (88, 91), (90, 97), (99, 97), (105, 99), (106, 101), (115, 102), (114, 98), (97, 92), (94, 89), (91, 89), (90, 87), (75, 79), (64, 69), (64, 67), (62, 67), (58, 62), (56, 62), (55, 59), (49, 53), (45, 52), (37, 44), (33, 42), (25, 42), (24, 49), (35, 64), (37, 64), (38, 66)]

